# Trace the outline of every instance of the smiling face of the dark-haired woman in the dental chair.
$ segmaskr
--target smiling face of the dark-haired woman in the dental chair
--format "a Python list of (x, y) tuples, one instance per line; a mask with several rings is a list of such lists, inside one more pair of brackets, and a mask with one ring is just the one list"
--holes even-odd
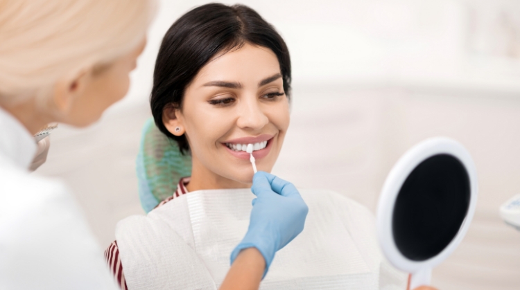
[[(200, 174), (227, 188), (249, 185), (253, 170), (245, 152), (248, 144), (254, 145), (258, 170), (270, 172), (289, 126), (289, 103), (275, 53), (246, 43), (216, 55), (189, 84), (182, 110), (175, 115), (191, 148), (192, 181)], [(176, 133), (176, 125), (165, 125)]]

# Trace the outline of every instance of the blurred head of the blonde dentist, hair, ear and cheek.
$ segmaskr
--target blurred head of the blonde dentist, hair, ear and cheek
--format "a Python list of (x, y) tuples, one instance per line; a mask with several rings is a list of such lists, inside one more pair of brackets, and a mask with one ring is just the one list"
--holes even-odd
[(0, 107), (35, 134), (83, 127), (128, 91), (150, 0), (0, 0)]

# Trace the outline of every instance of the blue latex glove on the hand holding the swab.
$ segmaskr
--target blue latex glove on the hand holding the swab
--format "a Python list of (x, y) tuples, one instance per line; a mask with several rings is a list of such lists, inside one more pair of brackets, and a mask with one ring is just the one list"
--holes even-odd
[(231, 264), (245, 248), (257, 248), (266, 259), (265, 277), (275, 253), (302, 233), (309, 208), (293, 183), (257, 172), (251, 191), (253, 209), (248, 233), (231, 253)]

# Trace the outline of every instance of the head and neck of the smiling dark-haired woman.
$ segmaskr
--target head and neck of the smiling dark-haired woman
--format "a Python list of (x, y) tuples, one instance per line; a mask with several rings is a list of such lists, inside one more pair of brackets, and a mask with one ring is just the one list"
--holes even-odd
[(290, 89), (288, 48), (254, 10), (209, 4), (178, 19), (157, 56), (151, 107), (157, 127), (191, 153), (188, 190), (250, 187), (248, 143), (259, 143), (253, 156), (270, 172)]

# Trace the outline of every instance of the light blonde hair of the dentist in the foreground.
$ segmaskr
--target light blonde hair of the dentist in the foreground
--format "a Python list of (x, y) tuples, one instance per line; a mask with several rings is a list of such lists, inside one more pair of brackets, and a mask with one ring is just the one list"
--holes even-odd
[(49, 96), (63, 77), (136, 48), (155, 0), (0, 0), (0, 103)]

